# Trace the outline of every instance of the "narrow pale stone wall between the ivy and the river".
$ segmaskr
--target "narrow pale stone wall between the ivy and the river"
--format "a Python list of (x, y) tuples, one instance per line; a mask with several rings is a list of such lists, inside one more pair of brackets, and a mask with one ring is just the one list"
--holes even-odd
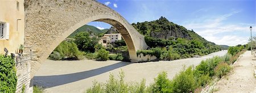
[(16, 92), (22, 92), (23, 85), (25, 86), (25, 92), (30, 88), (30, 57), (31, 54), (23, 54), (22, 56), (16, 56), (16, 76), (18, 78)]

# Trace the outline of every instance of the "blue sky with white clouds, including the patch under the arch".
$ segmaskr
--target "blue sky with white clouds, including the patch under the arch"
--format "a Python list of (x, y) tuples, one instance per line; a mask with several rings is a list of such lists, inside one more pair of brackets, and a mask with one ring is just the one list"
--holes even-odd
[[(137, 23), (166, 17), (218, 45), (246, 44), (256, 35), (255, 0), (98, 0), (117, 11), (129, 23)], [(98, 28), (110, 28), (102, 22), (91, 22)]]

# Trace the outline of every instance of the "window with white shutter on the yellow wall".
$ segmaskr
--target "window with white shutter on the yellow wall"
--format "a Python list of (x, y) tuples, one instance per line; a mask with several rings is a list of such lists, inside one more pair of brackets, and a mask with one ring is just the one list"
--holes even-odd
[(9, 39), (9, 23), (0, 22), (0, 39)]

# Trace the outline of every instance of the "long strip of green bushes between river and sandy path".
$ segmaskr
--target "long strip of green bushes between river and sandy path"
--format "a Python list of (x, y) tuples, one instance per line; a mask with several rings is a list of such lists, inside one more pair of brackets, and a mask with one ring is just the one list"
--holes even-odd
[[(176, 74), (172, 80), (168, 79), (167, 73), (163, 71), (149, 86), (146, 86), (145, 79), (142, 79), (141, 82), (125, 83), (125, 74), (121, 70), (118, 79), (110, 74), (106, 83), (94, 81), (93, 86), (88, 88), (86, 92), (200, 92), (214, 79), (222, 78), (232, 70), (230, 65), (237, 60), (240, 54), (245, 52), (242, 46), (234, 47), (229, 48), (229, 52), (225, 56), (201, 61), (196, 67), (184, 66), (183, 70)], [(240, 50), (236, 54), (230, 54), (236, 51), (237, 48)]]

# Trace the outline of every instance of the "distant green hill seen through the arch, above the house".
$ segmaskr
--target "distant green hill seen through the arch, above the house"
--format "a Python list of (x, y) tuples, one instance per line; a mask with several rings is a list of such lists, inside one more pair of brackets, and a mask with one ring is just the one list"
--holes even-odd
[(78, 29), (76, 29), (75, 32), (73, 32), (71, 35), (69, 35), (68, 37), (69, 38), (72, 38), (72, 37), (75, 37), (76, 33), (79, 33), (79, 32), (84, 32), (84, 31), (88, 31), (88, 32), (91, 32), (91, 33), (94, 33), (94, 34), (99, 34), (99, 33), (105, 33), (106, 31), (108, 31), (108, 29), (98, 29), (94, 26), (89, 26), (89, 25), (84, 25)]

